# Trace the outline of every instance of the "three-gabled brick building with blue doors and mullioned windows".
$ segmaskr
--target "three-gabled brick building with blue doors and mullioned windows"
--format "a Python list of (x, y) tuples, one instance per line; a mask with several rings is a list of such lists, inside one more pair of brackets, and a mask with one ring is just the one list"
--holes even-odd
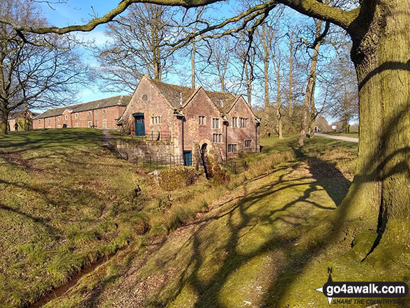
[(121, 118), (132, 135), (170, 135), (174, 155), (214, 148), (221, 159), (259, 151), (259, 124), (243, 96), (192, 89), (144, 75)]

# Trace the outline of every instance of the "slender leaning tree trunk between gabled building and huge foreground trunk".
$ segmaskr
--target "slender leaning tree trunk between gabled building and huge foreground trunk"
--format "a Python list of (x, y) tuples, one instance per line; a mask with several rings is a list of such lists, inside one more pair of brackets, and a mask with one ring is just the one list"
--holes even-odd
[(317, 43), (317, 45), (314, 46), (312, 63), (310, 64), (310, 74), (309, 74), (309, 78), (307, 78), (305, 100), (303, 103), (301, 130), (299, 131), (299, 140), (298, 140), (299, 145), (301, 147), (305, 145), (305, 138), (307, 134), (307, 124), (308, 124), (308, 119), (309, 119), (310, 104), (312, 102), (312, 98), (314, 95), (314, 84), (316, 82), (316, 66), (317, 66), (317, 58), (319, 56), (319, 47), (320, 47), (320, 43)]

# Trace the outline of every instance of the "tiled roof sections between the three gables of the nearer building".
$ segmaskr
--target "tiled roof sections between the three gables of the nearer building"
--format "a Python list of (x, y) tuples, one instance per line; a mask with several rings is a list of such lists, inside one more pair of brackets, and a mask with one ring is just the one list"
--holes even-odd
[[(155, 89), (160, 93), (173, 108), (179, 108), (180, 105), (180, 98), (182, 94), (182, 105), (188, 101), (190, 96), (196, 91), (196, 89), (192, 89), (190, 87), (182, 87), (179, 85), (170, 85), (169, 83), (160, 82), (157, 80), (151, 80), (149, 78), (151, 85), (155, 87)], [(213, 91), (205, 91), (206, 94), (211, 99), (212, 103), (215, 105), (216, 108), (220, 112), (227, 112), (231, 105), (236, 100), (234, 94), (230, 93), (222, 93), (222, 92), (213, 92)], [(222, 103), (221, 103), (222, 101)]]

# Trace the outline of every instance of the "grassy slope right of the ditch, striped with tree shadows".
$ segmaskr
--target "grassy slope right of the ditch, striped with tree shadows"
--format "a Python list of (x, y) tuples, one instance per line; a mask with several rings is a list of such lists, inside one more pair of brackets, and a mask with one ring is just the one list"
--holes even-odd
[(208, 211), (164, 241), (122, 251), (46, 307), (318, 308), (328, 307), (314, 291), (328, 267), (337, 281), (400, 281), (410, 270), (408, 235), (395, 246), (403, 254), (384, 246), (361, 263), (373, 230), (335, 227), (357, 144), (314, 138), (300, 149), (295, 141), (262, 140), (264, 152), (246, 157), (249, 170)]

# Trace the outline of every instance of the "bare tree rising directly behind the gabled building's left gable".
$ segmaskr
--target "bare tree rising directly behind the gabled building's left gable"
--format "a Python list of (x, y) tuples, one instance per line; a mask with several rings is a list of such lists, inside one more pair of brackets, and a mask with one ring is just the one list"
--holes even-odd
[(172, 69), (174, 48), (165, 43), (179, 33), (174, 14), (168, 6), (139, 3), (108, 25), (107, 43), (93, 47), (100, 64), (95, 73), (103, 81), (102, 89), (132, 92), (144, 73), (161, 80)]

